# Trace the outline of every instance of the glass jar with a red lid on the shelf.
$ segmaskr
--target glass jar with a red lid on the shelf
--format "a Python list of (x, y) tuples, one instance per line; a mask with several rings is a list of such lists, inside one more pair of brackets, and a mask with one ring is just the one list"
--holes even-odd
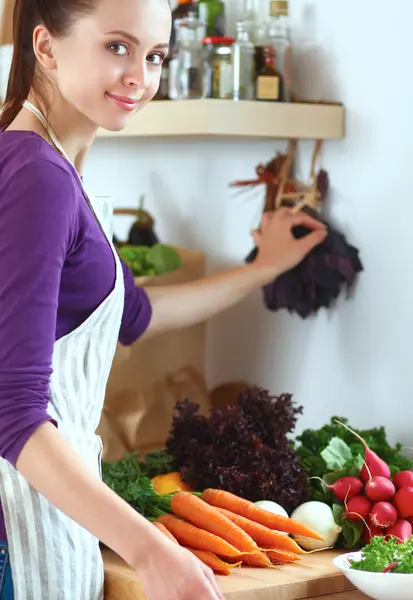
[(232, 45), (234, 41), (234, 38), (224, 36), (204, 38), (210, 74), (208, 96), (211, 98), (232, 99), (234, 88)]

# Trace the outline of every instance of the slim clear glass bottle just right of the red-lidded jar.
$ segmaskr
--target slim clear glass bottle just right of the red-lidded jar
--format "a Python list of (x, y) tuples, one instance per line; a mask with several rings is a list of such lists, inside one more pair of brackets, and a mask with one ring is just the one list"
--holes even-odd
[(248, 26), (239, 21), (237, 37), (232, 45), (232, 72), (234, 100), (254, 99), (254, 44), (250, 41)]

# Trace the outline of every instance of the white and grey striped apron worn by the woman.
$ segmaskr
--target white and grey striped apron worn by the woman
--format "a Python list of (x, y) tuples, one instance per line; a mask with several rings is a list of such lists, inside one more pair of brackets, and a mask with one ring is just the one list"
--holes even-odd
[[(49, 131), (65, 154), (52, 134)], [(85, 322), (56, 341), (48, 407), (61, 435), (99, 477), (102, 443), (96, 430), (124, 305), (122, 267), (109, 239), (108, 243), (116, 262), (114, 288)], [(0, 496), (15, 600), (101, 600), (99, 540), (50, 504), (4, 459)]]

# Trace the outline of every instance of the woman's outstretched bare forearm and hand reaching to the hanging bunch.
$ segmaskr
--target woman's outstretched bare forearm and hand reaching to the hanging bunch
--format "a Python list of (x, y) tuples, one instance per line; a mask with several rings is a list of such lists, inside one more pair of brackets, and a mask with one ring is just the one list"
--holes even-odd
[[(295, 225), (314, 231), (301, 239), (292, 235)], [(259, 248), (254, 263), (227, 269), (190, 283), (146, 288), (152, 319), (142, 339), (170, 329), (186, 327), (233, 306), (248, 294), (298, 264), (325, 237), (325, 226), (304, 213), (282, 209), (265, 215), (260, 231), (253, 233)]]

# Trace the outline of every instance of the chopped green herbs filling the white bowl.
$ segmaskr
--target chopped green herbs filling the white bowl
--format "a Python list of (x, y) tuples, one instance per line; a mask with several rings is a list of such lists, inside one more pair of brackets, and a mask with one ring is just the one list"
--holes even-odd
[(349, 558), (349, 562), (358, 571), (413, 573), (413, 537), (400, 543), (395, 538), (375, 536), (361, 550), (360, 560)]

